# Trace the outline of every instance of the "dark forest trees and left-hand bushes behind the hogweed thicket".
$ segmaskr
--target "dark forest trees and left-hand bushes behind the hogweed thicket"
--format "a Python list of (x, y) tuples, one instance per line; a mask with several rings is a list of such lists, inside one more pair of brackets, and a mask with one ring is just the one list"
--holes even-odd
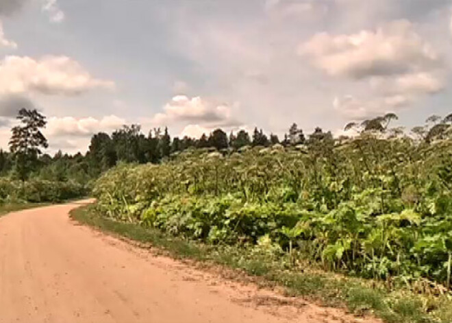
[[(246, 145), (279, 142), (277, 136), (272, 134), (268, 139), (257, 128), (251, 138), (244, 130), (231, 133), (228, 138), (223, 130), (217, 129), (199, 139), (188, 136), (171, 139), (168, 128), (164, 131), (155, 128), (145, 136), (140, 125), (124, 125), (111, 135), (94, 134), (86, 154), (79, 152), (71, 156), (59, 151), (50, 156), (42, 152), (49, 147), (41, 132), (47, 124), (46, 117), (36, 110), (21, 109), (17, 119), (19, 123), (12, 128), (10, 152), (0, 149), (0, 180), (3, 183), (0, 203), (55, 202), (86, 195), (92, 181), (118, 163), (159, 164), (188, 148), (239, 149)], [(290, 140), (287, 137), (283, 143), (304, 141), (303, 132), (297, 125), (290, 128)], [(38, 192), (36, 187), (51, 189)]]

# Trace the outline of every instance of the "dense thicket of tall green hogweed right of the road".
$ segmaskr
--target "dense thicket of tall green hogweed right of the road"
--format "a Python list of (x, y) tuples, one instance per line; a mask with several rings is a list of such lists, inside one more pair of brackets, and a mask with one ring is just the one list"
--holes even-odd
[[(212, 244), (271, 246), (294, 263), (431, 289), (450, 287), (452, 141), (381, 125), (352, 139), (317, 130), (303, 145), (188, 149), (161, 165), (118, 165), (98, 207)], [(351, 126), (351, 125), (349, 125)], [(369, 131), (369, 130), (375, 130)], [(433, 129), (432, 127), (431, 129)], [(427, 135), (429, 134), (426, 130)]]

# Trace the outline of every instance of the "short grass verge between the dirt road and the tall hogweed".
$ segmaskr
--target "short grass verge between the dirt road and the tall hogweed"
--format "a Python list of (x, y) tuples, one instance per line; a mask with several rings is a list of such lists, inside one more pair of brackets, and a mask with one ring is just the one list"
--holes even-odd
[(387, 323), (451, 323), (452, 299), (449, 296), (414, 294), (407, 289), (388, 290), (375, 280), (364, 280), (321, 272), (309, 266), (300, 270), (288, 265), (287, 255), (275, 257), (235, 246), (210, 246), (168, 236), (153, 228), (116, 222), (98, 213), (95, 206), (71, 211), (71, 217), (114, 235), (164, 250), (177, 259), (223, 265), (258, 276), (259, 283), (284, 287), (289, 296), (303, 296), (325, 306), (344, 307), (355, 315), (375, 315)]

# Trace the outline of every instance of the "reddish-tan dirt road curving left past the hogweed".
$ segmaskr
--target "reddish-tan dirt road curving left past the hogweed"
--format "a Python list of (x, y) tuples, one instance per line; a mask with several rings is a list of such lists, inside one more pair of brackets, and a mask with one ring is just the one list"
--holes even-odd
[(355, 322), (78, 226), (76, 206), (0, 218), (1, 323)]

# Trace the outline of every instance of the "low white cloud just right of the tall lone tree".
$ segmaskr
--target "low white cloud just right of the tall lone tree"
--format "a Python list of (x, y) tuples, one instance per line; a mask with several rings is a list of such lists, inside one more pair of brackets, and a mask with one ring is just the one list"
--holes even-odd
[(91, 136), (96, 132), (116, 130), (125, 123), (125, 119), (115, 115), (103, 117), (102, 119), (93, 117), (82, 119), (51, 117), (48, 119), (45, 134), (49, 136)]

